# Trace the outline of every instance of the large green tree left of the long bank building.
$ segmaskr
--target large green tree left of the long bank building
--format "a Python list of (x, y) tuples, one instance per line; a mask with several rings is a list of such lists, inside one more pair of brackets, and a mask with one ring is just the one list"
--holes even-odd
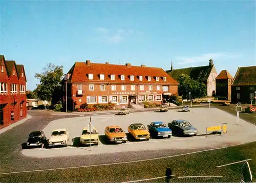
[(47, 64), (41, 74), (35, 73), (35, 78), (39, 79), (35, 93), (41, 100), (57, 103), (61, 97), (61, 80), (63, 78), (63, 66)]

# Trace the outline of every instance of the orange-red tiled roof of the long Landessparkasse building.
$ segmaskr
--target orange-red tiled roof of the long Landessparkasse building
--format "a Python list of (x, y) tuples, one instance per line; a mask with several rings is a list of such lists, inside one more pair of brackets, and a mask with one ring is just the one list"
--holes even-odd
[[(117, 65), (103, 63), (75, 62), (68, 74), (71, 74), (69, 80), (71, 82), (120, 82), (120, 83), (159, 83), (159, 84), (175, 84), (179, 83), (169, 76), (162, 68), (133, 66), (131, 64)], [(88, 74), (93, 74), (93, 79), (89, 80)], [(104, 80), (100, 80), (99, 75), (104, 74)], [(111, 80), (110, 75), (115, 75), (115, 80)], [(125, 79), (121, 80), (120, 75), (124, 75)], [(130, 80), (130, 76), (134, 76), (134, 81)], [(139, 76), (143, 76), (143, 80), (139, 81)], [(147, 76), (151, 76), (151, 81), (147, 80)], [(159, 81), (156, 81), (159, 77)], [(166, 81), (163, 81), (166, 77)]]

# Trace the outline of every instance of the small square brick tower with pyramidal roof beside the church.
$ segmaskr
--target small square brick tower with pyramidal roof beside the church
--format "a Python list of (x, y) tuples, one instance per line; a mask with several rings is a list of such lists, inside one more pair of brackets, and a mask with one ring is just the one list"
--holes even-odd
[(233, 77), (227, 72), (222, 70), (216, 79), (216, 95), (231, 100), (231, 83)]

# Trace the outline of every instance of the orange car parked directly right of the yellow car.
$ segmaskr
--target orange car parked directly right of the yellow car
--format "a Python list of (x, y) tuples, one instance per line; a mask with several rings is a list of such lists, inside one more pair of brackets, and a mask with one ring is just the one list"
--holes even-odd
[(127, 136), (120, 126), (107, 126), (105, 136), (111, 143), (126, 143)]

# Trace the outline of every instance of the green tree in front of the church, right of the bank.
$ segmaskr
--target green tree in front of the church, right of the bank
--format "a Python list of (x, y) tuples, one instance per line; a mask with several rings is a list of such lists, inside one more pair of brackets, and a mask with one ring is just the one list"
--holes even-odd
[(182, 99), (189, 99), (189, 91), (191, 99), (205, 97), (207, 94), (207, 87), (204, 83), (200, 83), (190, 76), (181, 74), (179, 75), (178, 93), (182, 95)]

